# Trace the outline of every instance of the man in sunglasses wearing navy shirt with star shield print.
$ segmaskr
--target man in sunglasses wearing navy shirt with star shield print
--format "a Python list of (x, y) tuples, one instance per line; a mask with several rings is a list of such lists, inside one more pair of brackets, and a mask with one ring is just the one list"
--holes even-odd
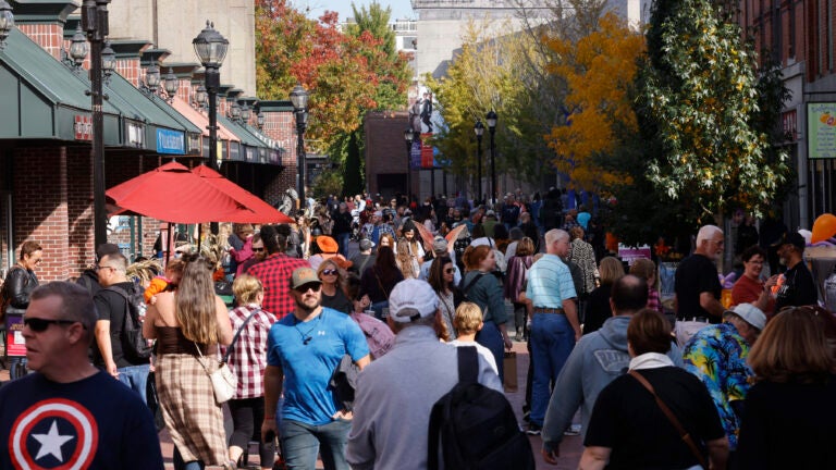
[(161, 469), (153, 417), (136, 392), (95, 368), (96, 308), (84, 287), (36, 288), (24, 317), (35, 373), (0, 388), (0, 469)]

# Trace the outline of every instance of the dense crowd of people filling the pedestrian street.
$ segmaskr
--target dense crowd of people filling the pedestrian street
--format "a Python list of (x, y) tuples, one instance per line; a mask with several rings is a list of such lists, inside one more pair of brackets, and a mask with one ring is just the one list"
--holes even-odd
[[(153, 411), (176, 469), (238, 468), (251, 441), (262, 469), (278, 450), (287, 468), (427, 468), (456, 348), (475, 347), (477, 382), (502, 392), (513, 339), (530, 352), (524, 419), (549, 463), (580, 433), (585, 469), (836, 466), (836, 320), (800, 235), (774, 247), (780, 275), (764, 279), (757, 245), (738, 250), (724, 306), (726, 236), (701, 227), (664, 304), (656, 264), (607, 256), (594, 218), (561, 196), (329, 199), (316, 221), (233, 224), (164, 270), (106, 244), (75, 282), (42, 286), (44, 250), (26, 242), (2, 290), (4, 311), (25, 312), (26, 357), (0, 388), (0, 468), (161, 468)], [(213, 382), (223, 364), (229, 401)], [(66, 418), (50, 418), (52, 401)], [(133, 411), (112, 410), (123, 401)], [(70, 438), (99, 441), (72, 445), (87, 455), (62, 450)]]

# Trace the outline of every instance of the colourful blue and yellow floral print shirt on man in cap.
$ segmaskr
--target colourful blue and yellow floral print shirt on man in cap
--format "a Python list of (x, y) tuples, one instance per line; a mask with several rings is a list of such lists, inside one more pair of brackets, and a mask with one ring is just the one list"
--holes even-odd
[(732, 323), (705, 326), (685, 345), (685, 369), (697, 375), (720, 413), (732, 450), (737, 448), (740, 417), (732, 403), (746, 399), (751, 386), (752, 370), (746, 363), (749, 343)]

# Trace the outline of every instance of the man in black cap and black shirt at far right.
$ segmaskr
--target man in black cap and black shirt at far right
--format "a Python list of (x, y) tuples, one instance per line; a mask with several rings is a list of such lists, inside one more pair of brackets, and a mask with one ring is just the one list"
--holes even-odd
[(798, 232), (785, 233), (778, 242), (778, 258), (787, 267), (787, 272), (775, 295), (775, 313), (784, 307), (815, 305), (819, 301), (813, 275), (804, 262), (806, 246), (804, 237)]

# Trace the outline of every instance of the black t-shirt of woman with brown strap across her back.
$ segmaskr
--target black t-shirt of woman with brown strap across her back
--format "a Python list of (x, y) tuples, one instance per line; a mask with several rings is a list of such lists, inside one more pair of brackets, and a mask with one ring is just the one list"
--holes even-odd
[[(725, 436), (705, 385), (675, 367), (639, 371), (705, 453), (704, 442)], [(610, 447), (607, 469), (684, 469), (698, 463), (653, 395), (622, 375), (595, 400), (583, 445)]]

